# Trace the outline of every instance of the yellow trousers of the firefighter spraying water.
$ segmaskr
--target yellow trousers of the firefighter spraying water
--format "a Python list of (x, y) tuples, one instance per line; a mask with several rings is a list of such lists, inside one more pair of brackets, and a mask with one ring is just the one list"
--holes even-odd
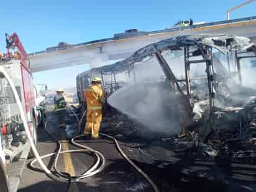
[(85, 125), (85, 135), (91, 132), (91, 137), (93, 139), (98, 139), (99, 137), (99, 127), (102, 121), (102, 111), (101, 109), (88, 109), (86, 114), (86, 125)]

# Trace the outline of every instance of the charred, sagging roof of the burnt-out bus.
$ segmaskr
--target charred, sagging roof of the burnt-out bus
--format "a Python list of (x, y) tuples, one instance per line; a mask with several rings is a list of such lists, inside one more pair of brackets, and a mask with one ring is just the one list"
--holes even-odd
[[(153, 56), (153, 53), (157, 51), (181, 50), (182, 47), (186, 46), (196, 46), (199, 49), (212, 47), (222, 53), (229, 50), (243, 51), (255, 47), (254, 43), (247, 37), (235, 35), (183, 35), (149, 44), (140, 48), (133, 55), (122, 61), (112, 65), (93, 68), (89, 71), (97, 71), (99, 73), (107, 73), (110, 71), (122, 72), (127, 70), (133, 63), (142, 62), (145, 58)], [(89, 71), (84, 72), (83, 75), (86, 75)]]

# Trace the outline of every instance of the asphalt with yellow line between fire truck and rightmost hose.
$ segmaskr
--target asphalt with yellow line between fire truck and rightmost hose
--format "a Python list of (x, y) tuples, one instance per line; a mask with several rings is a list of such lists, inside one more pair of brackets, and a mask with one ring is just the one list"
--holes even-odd
[[(50, 123), (49, 130), (62, 141), (63, 150), (77, 149), (66, 140), (66, 133), (64, 130), (58, 129), (58, 123), (54, 121)], [(56, 144), (44, 129), (38, 129), (38, 137), (37, 149), (40, 155), (55, 151)], [(152, 191), (149, 183), (121, 157), (111, 140), (99, 138), (98, 140), (81, 140), (80, 142), (103, 153), (106, 158), (106, 165), (98, 175), (73, 183), (70, 191)], [(30, 160), (28, 160), (27, 168), (22, 175), (19, 192), (65, 191), (65, 183), (53, 181), (44, 173), (31, 170), (29, 162)], [(50, 168), (53, 158), (48, 158), (44, 162)], [(85, 153), (67, 153), (60, 156), (58, 169), (74, 175), (87, 170), (93, 162), (94, 159)]]

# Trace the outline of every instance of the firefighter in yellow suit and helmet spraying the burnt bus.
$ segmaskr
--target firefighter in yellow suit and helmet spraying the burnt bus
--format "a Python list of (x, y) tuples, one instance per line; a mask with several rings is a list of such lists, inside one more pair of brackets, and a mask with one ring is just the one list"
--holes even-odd
[(99, 137), (99, 127), (102, 120), (102, 108), (106, 102), (104, 91), (101, 86), (101, 78), (94, 78), (89, 89), (85, 90), (87, 115), (84, 135), (91, 132), (93, 139)]

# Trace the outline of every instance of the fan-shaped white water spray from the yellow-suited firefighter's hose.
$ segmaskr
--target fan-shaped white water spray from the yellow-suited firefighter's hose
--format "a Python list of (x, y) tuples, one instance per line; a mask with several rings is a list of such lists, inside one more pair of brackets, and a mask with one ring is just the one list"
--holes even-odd
[(160, 85), (127, 85), (113, 93), (108, 103), (149, 129), (169, 134), (178, 131), (175, 96)]

